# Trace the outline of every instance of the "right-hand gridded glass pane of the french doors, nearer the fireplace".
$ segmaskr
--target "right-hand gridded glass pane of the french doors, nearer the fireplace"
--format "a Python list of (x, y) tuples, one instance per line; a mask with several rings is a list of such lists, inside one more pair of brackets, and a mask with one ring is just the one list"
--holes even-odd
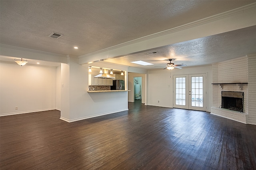
[(191, 106), (204, 107), (203, 76), (191, 77)]

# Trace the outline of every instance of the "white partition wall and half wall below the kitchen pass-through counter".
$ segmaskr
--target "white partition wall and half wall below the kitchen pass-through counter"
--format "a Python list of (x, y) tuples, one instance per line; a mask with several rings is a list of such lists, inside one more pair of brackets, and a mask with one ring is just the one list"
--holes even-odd
[[(72, 122), (128, 110), (128, 92), (87, 92), (88, 64), (80, 65), (78, 59), (70, 57), (69, 64), (61, 66), (61, 82), (64, 87), (61, 88), (60, 119)], [(109, 68), (107, 64), (100, 66)], [(126, 67), (122, 68), (126, 70)]]

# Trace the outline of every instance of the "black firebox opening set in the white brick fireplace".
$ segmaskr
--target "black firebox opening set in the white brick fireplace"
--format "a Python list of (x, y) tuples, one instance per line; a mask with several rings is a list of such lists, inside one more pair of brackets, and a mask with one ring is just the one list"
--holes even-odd
[(221, 108), (244, 111), (244, 92), (221, 92)]

